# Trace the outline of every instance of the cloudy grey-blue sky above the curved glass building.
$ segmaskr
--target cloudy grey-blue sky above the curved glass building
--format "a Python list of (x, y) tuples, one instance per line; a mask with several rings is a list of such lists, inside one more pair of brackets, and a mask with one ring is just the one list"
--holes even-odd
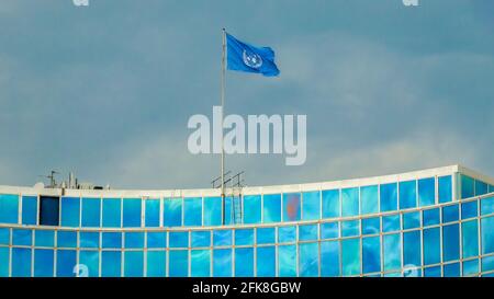
[(227, 72), (226, 114), (306, 115), (307, 158), (226, 157), (245, 184), (463, 164), (494, 176), (494, 1), (3, 0), (0, 184), (49, 170), (113, 188), (210, 187), (187, 123), (220, 104), (222, 33), (277, 78)]

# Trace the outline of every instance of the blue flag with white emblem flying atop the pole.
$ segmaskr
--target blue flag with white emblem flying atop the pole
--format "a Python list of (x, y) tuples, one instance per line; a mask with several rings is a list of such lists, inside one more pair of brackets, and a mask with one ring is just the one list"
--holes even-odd
[(278, 76), (280, 71), (274, 65), (274, 51), (269, 47), (255, 47), (226, 34), (227, 68), (229, 70)]

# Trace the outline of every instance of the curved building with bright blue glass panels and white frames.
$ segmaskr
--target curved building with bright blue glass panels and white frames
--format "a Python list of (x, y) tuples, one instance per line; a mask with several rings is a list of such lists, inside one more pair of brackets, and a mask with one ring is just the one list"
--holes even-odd
[(0, 276), (493, 276), (494, 180), (460, 165), (218, 189), (0, 187)]

